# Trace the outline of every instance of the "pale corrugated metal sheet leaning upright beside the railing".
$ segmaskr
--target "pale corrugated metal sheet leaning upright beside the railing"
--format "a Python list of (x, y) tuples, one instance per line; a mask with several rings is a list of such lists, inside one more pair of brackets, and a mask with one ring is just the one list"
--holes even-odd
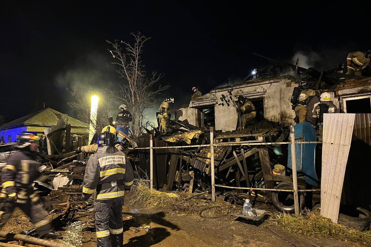
[(321, 215), (334, 223), (338, 222), (354, 119), (354, 113), (324, 114)]

